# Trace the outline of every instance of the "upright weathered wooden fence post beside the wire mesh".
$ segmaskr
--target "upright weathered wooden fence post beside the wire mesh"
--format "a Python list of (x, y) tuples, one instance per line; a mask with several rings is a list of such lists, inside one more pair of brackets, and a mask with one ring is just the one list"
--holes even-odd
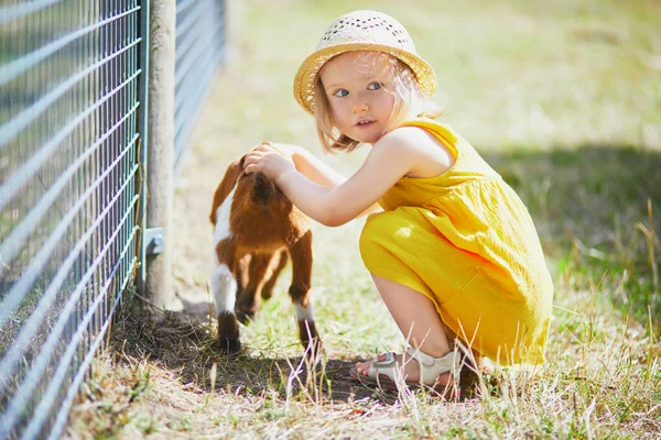
[(148, 206), (145, 294), (160, 309), (172, 308), (172, 204), (174, 155), (174, 61), (176, 2), (150, 2)]

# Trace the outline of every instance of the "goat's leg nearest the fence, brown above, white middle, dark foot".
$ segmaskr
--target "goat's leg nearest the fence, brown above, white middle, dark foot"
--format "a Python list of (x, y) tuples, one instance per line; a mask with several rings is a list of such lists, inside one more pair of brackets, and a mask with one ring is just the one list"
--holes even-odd
[(209, 286), (214, 295), (214, 308), (218, 317), (218, 343), (225, 354), (236, 354), (241, 350), (239, 323), (234, 308), (237, 299), (235, 278), (237, 256), (232, 238), (220, 240), (216, 244), (218, 265), (212, 273)]

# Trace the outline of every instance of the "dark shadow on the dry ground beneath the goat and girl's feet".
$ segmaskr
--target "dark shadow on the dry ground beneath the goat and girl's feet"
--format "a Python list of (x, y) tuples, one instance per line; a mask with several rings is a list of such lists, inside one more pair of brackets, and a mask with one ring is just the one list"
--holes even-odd
[[(215, 389), (232, 394), (275, 392), (284, 398), (291, 393), (294, 398), (314, 402), (370, 398), (394, 404), (398, 399), (397, 392), (379, 391), (350, 378), (349, 371), (358, 359), (327, 359), (312, 365), (303, 356), (272, 359), (250, 348), (245, 348), (242, 354), (235, 358), (220, 355), (208, 324), (185, 314), (169, 312), (155, 321), (141, 311), (124, 311), (115, 324), (111, 345), (124, 356), (149, 359), (174, 372), (183, 384), (193, 383), (205, 391), (212, 389), (210, 372), (216, 364)], [(472, 372), (463, 372), (463, 398), (473, 396), (468, 389), (475, 380)]]

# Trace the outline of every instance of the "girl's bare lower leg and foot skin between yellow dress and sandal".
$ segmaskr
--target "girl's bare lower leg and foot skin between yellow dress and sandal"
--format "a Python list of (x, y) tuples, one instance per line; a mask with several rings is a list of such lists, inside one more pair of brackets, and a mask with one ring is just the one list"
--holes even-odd
[[(411, 346), (433, 358), (443, 356), (452, 350), (443, 321), (430, 298), (390, 279), (376, 275), (372, 275), (372, 278), (390, 315)], [(402, 361), (401, 355), (398, 355), (398, 360)], [(357, 363), (357, 372), (367, 374), (369, 364), (369, 361)], [(418, 363), (407, 362), (404, 374), (408, 381), (418, 381)], [(443, 374), (440, 383), (444, 383), (444, 376), (448, 375), (449, 373)]]

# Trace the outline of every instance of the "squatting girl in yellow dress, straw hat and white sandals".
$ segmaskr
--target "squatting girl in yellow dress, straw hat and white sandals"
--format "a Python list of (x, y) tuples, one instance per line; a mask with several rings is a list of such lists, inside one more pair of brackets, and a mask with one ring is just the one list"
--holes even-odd
[(543, 363), (553, 287), (514, 191), (449, 127), (434, 121), (433, 68), (393, 18), (335, 20), (294, 81), (326, 151), (371, 144), (344, 178), (302, 147), (264, 144), (264, 173), (303, 212), (337, 227), (370, 210), (360, 253), (411, 348), (356, 364), (379, 386), (456, 386), (458, 344), (501, 364)]

